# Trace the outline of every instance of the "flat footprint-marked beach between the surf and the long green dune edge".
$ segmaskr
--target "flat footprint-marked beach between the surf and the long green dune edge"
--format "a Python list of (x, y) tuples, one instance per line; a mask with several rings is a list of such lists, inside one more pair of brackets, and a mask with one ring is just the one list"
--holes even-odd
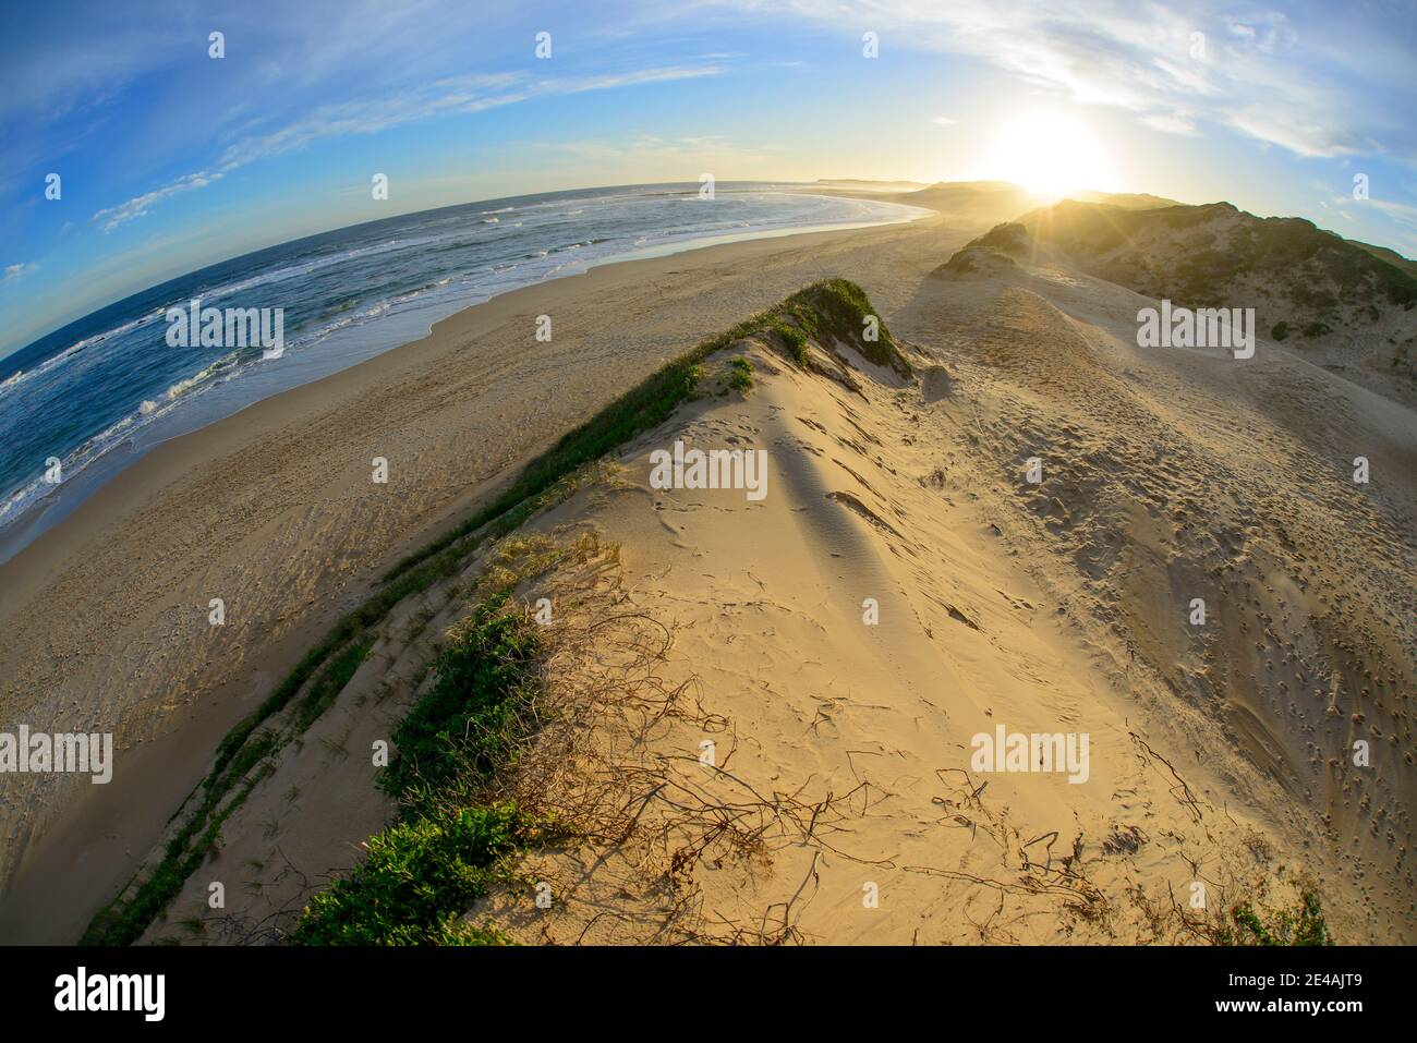
[[(843, 266), (922, 278), (972, 231), (922, 218), (606, 262), (154, 446), (0, 565), (0, 625), (13, 635), (0, 714), (112, 730), (119, 751), (108, 787), (7, 787), (0, 937), (77, 938), (215, 741), (312, 636), (628, 383)], [(913, 285), (879, 289), (887, 310)], [(553, 309), (557, 342), (536, 344), (534, 316)], [(368, 493), (373, 455), (391, 461), (397, 503)], [(237, 616), (218, 633), (205, 619), (213, 591), (232, 592)], [(95, 632), (123, 652), (96, 658)]]

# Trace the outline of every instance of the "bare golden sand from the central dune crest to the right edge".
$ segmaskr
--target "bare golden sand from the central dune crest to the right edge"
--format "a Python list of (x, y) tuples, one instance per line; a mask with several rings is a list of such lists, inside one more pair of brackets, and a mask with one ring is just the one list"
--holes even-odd
[[(1077, 305), (1084, 288), (1061, 289)], [(1241, 374), (1144, 359), (1129, 295), (1085, 289), (1074, 319), (1047, 278), (928, 285), (893, 316), (945, 363), (922, 387), (863, 381), (862, 401), (778, 367), (686, 425), (694, 445), (769, 449), (762, 504), (662, 493), (657, 519), (633, 499), (592, 513), (727, 721), (731, 777), (689, 785), (813, 812), (849, 795), (820, 839), (799, 808), (761, 863), (714, 852), (696, 931), (1185, 940), (1162, 910), (1195, 881), (1213, 910), (1306, 877), (1340, 938), (1411, 940), (1411, 414), (1278, 351)], [(1380, 487), (1349, 480), (1360, 452)], [(971, 737), (999, 724), (1090, 735), (1088, 779), (969, 772)], [(567, 941), (611, 894), (564, 920), (502, 913)]]

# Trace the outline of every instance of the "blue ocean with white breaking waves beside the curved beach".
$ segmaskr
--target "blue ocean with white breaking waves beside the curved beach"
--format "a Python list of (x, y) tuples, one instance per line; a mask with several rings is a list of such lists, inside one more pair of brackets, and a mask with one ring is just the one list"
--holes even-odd
[[(609, 261), (922, 213), (809, 186), (718, 184), (713, 200), (697, 184), (588, 188), (404, 214), (171, 279), (0, 360), (0, 561), (153, 445), (417, 340), (497, 293)], [(167, 310), (193, 299), (283, 309), (283, 354), (170, 346)]]

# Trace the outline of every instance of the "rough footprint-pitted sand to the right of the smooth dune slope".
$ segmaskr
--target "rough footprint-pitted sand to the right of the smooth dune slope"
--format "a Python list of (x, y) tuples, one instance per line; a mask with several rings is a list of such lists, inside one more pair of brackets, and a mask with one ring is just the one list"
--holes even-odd
[(1142, 303), (1043, 266), (941, 278), (911, 327), (952, 330), (921, 336), (992, 385), (968, 405), (988, 458), (1043, 459), (1015, 485), (1049, 537), (1036, 574), (1125, 656), (1173, 748), (1220, 772), (1231, 813), (1265, 809), (1350, 937), (1410, 940), (1417, 418), (1268, 342), (1139, 350)]

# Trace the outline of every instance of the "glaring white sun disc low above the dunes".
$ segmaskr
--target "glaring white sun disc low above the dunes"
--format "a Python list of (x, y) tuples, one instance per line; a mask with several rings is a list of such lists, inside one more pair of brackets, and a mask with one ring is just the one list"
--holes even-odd
[(1087, 125), (1057, 112), (1029, 112), (1005, 122), (988, 169), (990, 177), (1022, 184), (1047, 200), (1081, 188), (1102, 190), (1114, 180), (1111, 163)]

